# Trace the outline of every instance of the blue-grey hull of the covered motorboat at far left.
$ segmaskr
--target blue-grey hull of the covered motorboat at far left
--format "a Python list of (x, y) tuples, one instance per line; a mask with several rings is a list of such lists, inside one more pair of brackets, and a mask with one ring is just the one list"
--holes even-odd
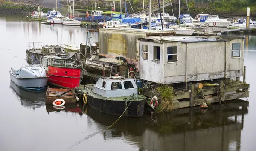
[(29, 91), (42, 91), (46, 88), (48, 77), (36, 77), (36, 78), (16, 78), (10, 73), (11, 81), (20, 87)]

